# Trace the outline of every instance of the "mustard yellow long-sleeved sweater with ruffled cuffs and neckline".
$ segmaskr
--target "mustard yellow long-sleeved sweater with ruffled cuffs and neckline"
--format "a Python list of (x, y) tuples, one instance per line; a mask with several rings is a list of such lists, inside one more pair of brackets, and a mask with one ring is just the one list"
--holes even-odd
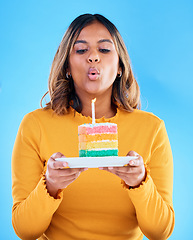
[[(39, 109), (27, 114), (12, 157), (13, 227), (23, 240), (167, 239), (174, 228), (173, 160), (162, 120), (151, 113), (117, 110), (97, 122), (118, 125), (119, 156), (139, 153), (150, 170), (140, 187), (127, 189), (107, 171), (89, 169), (51, 197), (46, 189), (46, 162), (55, 152), (78, 156), (78, 125), (90, 117), (70, 110), (57, 116)], [(91, 159), (92, 161), (92, 159)]]

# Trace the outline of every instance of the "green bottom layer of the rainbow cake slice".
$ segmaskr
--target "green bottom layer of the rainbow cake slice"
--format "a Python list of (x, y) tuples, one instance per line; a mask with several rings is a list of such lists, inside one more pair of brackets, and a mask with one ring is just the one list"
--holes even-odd
[(79, 150), (79, 157), (118, 156), (118, 149), (108, 150)]

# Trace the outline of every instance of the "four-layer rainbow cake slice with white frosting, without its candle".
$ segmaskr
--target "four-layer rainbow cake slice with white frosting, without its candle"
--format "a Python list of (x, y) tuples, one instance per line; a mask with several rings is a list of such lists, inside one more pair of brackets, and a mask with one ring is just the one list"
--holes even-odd
[(79, 157), (118, 156), (118, 133), (115, 123), (78, 126)]

